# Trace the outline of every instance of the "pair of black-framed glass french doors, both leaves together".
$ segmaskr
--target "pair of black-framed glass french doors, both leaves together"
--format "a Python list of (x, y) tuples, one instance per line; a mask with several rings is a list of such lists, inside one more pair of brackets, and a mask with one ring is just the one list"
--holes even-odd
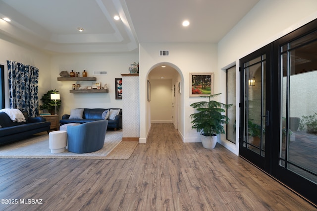
[(317, 20), (240, 59), (239, 155), (317, 204)]

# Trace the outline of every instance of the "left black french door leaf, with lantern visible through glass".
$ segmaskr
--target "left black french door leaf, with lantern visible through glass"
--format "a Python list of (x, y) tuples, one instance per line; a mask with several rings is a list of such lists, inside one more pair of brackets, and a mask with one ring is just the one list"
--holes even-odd
[(239, 155), (270, 170), (271, 45), (240, 59)]

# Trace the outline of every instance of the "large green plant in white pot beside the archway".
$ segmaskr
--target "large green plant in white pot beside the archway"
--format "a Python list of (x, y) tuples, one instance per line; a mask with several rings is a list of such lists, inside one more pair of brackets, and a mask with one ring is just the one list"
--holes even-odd
[(200, 96), (208, 98), (208, 101), (193, 103), (190, 106), (196, 109), (196, 113), (192, 113), (190, 117), (193, 119), (192, 128), (196, 129), (201, 134), (202, 144), (207, 149), (213, 149), (217, 144), (217, 134), (225, 133), (223, 124), (229, 121), (228, 116), (223, 113), (232, 107), (232, 104), (227, 105), (212, 101), (211, 98), (217, 97), (221, 93)]

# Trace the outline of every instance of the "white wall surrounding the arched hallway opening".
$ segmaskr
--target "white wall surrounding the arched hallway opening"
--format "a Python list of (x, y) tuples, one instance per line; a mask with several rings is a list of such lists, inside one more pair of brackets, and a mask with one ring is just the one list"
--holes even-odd
[[(159, 50), (169, 50), (170, 56), (159, 56)], [(150, 103), (147, 101), (147, 80), (149, 72), (159, 65), (169, 65), (180, 73), (182, 93), (179, 104), (179, 133), (184, 142), (198, 142), (198, 134), (191, 129), (189, 115), (194, 109), (189, 105), (201, 100), (200, 98), (189, 98), (189, 73), (190, 72), (214, 72), (215, 92), (220, 90), (218, 86), (219, 74), (217, 71), (217, 47), (216, 44), (151, 44), (142, 43), (139, 47), (140, 53), (140, 142), (146, 142), (151, 122)], [(224, 95), (225, 96), (225, 95)], [(225, 99), (225, 98), (224, 98)], [(152, 109), (152, 108), (151, 108)]]

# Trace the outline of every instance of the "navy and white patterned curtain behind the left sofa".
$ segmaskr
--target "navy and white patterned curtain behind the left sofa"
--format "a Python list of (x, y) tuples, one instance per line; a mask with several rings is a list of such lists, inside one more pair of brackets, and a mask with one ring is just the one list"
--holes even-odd
[(30, 117), (39, 114), (39, 69), (16, 61), (7, 61), (10, 108), (27, 111)]

